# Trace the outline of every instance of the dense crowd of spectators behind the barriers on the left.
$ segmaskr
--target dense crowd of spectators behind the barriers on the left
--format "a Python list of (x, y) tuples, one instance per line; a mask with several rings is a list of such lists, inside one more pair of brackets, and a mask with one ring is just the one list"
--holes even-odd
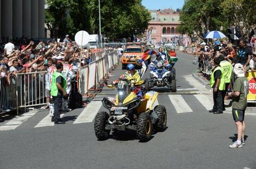
[(79, 66), (91, 62), (91, 53), (88, 47), (81, 53), (78, 45), (72, 42), (68, 35), (63, 42), (2, 38), (0, 40), (0, 77), (5, 78), (9, 84), (10, 76), (17, 75), (17, 73), (45, 71), (51, 66), (52, 60), (67, 62), (77, 71)]

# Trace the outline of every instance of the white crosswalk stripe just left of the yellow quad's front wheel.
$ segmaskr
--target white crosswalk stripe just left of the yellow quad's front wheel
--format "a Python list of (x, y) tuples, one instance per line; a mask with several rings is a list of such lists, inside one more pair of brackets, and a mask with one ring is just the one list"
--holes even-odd
[(79, 124), (83, 122), (92, 122), (97, 112), (100, 110), (101, 101), (91, 101), (90, 104), (83, 109), (81, 114), (73, 122), (73, 124)]

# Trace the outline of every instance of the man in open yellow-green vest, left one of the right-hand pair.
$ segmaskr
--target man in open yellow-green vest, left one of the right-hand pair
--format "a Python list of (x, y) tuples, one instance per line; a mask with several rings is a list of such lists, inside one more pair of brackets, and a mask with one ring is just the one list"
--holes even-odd
[(213, 88), (213, 112), (214, 114), (223, 113), (222, 93), (225, 90), (225, 79), (223, 76), (223, 68), (220, 67), (220, 59), (214, 58), (214, 71), (210, 76), (210, 86)]

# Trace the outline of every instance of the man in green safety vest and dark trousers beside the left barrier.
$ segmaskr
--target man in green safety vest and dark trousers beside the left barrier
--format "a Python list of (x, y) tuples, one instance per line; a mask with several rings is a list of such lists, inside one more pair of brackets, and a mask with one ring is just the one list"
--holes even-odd
[(63, 96), (67, 96), (66, 88), (67, 81), (62, 75), (63, 64), (56, 64), (55, 73), (52, 74), (52, 84), (51, 84), (51, 95), (54, 101), (54, 114), (53, 120), (54, 124), (65, 124), (64, 121), (61, 120), (61, 108), (62, 108), (62, 98)]

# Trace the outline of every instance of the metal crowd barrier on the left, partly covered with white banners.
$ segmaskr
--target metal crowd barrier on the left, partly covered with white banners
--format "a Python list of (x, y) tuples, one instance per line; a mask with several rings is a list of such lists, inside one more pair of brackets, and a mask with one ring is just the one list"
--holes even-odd
[[(117, 50), (101, 50), (93, 53), (90, 64), (80, 68), (77, 76), (78, 89), (82, 95), (88, 95), (89, 90), (97, 90), (100, 80), (107, 80), (108, 73), (118, 63)], [(26, 107), (48, 104), (50, 96), (46, 90), (47, 71), (19, 73), (7, 78), (0, 78), (0, 114)]]

